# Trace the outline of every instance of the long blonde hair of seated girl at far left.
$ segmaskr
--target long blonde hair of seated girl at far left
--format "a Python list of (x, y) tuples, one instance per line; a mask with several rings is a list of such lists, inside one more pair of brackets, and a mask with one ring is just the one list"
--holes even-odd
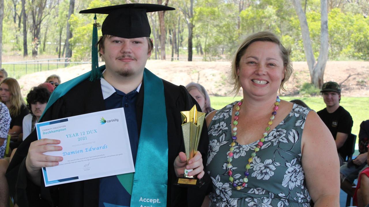
[[(15, 80), (14, 78), (5, 78), (3, 81), (1, 81), (0, 85), (3, 83), (8, 85), (10, 92), (10, 103), (11, 103), (11, 106), (9, 108), (10, 115), (12, 117), (18, 116), (20, 114), (22, 105), (25, 105), (18, 81)], [(5, 102), (3, 103), (5, 104)]]

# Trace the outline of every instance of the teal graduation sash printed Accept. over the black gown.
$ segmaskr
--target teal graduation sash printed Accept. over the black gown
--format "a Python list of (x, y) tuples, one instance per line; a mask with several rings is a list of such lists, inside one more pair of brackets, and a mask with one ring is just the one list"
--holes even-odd
[[(105, 66), (103, 65), (99, 69), (103, 71)], [(44, 113), (71, 88), (89, 78), (90, 74), (91, 71), (56, 87)], [(168, 123), (164, 86), (161, 78), (146, 68), (143, 79), (144, 109), (135, 173), (126, 173), (117, 175), (117, 177), (127, 192), (131, 194), (132, 207), (140, 207), (141, 205), (161, 207), (166, 206), (168, 187)]]

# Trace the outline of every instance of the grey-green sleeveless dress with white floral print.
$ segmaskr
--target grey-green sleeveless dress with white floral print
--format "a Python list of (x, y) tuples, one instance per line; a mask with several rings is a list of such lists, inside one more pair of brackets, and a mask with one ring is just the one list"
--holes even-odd
[[(301, 165), (301, 136), (311, 109), (294, 104), (284, 120), (269, 131), (261, 150), (253, 158), (248, 182), (236, 190), (228, 180), (227, 159), (231, 147), (232, 109), (235, 103), (218, 110), (211, 121), (206, 171), (213, 181), (211, 207), (296, 207), (310, 206)], [(258, 141), (234, 146), (231, 171), (237, 184), (245, 177), (246, 161)]]

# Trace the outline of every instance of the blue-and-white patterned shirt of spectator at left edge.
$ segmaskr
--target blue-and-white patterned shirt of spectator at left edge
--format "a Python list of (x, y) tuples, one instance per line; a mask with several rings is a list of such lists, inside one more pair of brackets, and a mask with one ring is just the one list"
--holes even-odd
[(0, 159), (4, 157), (10, 120), (8, 108), (4, 103), (0, 102)]

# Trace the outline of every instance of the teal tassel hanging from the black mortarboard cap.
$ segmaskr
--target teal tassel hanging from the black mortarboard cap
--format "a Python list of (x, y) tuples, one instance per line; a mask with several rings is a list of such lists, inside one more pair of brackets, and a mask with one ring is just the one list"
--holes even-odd
[(95, 81), (103, 77), (103, 74), (99, 70), (99, 56), (97, 52), (97, 27), (100, 27), (99, 23), (96, 23), (96, 14), (92, 29), (92, 53), (91, 53), (91, 75), (90, 75), (90, 81)]

